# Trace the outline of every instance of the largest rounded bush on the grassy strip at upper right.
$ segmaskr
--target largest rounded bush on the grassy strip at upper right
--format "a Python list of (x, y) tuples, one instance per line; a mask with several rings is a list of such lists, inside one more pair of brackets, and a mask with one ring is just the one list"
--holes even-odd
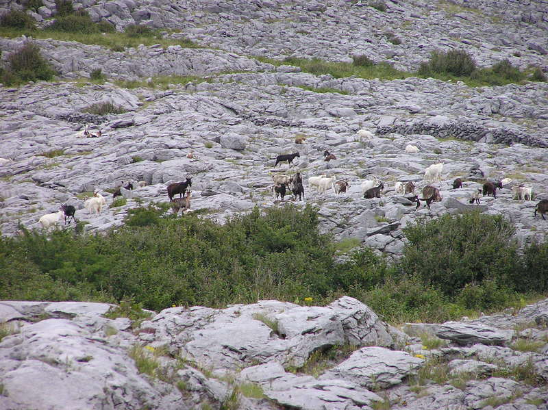
[(421, 63), (419, 75), (449, 74), (467, 76), (475, 70), (475, 62), (464, 50), (432, 51), (428, 62)]

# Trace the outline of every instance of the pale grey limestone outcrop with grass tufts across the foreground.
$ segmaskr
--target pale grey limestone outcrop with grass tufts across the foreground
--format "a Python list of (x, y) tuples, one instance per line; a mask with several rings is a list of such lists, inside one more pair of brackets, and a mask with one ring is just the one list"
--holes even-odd
[(0, 320), (1, 409), (548, 408), (548, 300), (408, 334), (347, 296), (158, 314), (1, 302)]

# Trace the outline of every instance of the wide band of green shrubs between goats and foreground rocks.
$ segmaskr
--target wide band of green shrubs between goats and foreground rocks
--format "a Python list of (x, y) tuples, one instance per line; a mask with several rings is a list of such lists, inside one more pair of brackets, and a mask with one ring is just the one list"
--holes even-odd
[[(123, 227), (101, 235), (23, 231), (0, 238), (0, 298), (132, 300), (158, 311), (269, 298), (323, 305), (347, 294), (397, 323), (519, 306), (530, 289), (548, 290), (548, 244), (518, 253), (512, 227), (497, 216), (419, 221), (406, 228), (410, 243), (399, 263), (360, 247), (336, 264), (340, 244), (319, 233), (311, 206), (255, 209), (222, 226), (195, 215), (175, 218), (168, 209), (129, 209)], [(532, 281), (535, 287), (523, 285)]]

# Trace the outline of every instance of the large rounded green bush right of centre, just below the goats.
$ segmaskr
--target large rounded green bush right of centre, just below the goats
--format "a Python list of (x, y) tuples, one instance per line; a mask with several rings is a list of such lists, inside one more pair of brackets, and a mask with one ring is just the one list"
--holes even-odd
[(401, 269), (454, 296), (469, 283), (508, 283), (519, 271), (514, 227), (502, 216), (479, 213), (419, 220), (404, 229)]

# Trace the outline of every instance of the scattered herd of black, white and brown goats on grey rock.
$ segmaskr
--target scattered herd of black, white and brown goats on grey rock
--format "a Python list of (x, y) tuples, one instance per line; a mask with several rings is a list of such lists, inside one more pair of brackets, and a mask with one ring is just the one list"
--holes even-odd
[[(82, 132), (83, 137), (97, 137), (101, 136), (101, 130), (99, 129), (98, 135), (92, 135), (87, 127), (80, 131)], [(361, 138), (372, 138), (372, 135), (370, 131), (361, 129), (358, 131), (358, 137)], [(296, 144), (303, 144), (305, 137), (298, 137), (295, 140)], [(409, 144), (406, 146), (406, 153), (417, 153), (419, 152), (419, 149)], [(292, 165), (292, 161), (300, 157), (301, 155), (296, 152), (292, 154), (283, 154), (283, 155), (277, 155), (275, 159), (274, 167), (277, 166), (277, 164), (282, 162), (288, 163), (288, 169)], [(194, 153), (190, 152), (186, 155), (188, 158), (194, 158)], [(325, 161), (331, 161), (332, 159), (336, 159), (336, 156), (329, 151), (325, 151), (323, 153), (323, 158)], [(424, 172), (424, 180), (428, 182), (434, 182), (434, 181), (441, 181), (441, 174), (443, 171), (443, 163), (433, 164), (425, 169)], [(474, 190), (470, 196), (469, 196), (469, 203), (477, 203), (479, 204), (479, 198), (480, 195), (482, 196), (493, 196), (493, 198), (497, 198), (497, 188), (503, 188), (503, 185), (506, 185), (510, 183), (512, 180), (505, 178), (502, 180), (497, 181), (486, 181), (483, 177), (483, 172), (479, 169), (475, 169), (475, 171), (479, 172), (479, 179), (478, 181), (483, 182), (482, 188), (478, 188), (477, 190)], [(271, 177), (273, 179), (274, 185), (271, 187), (271, 190), (275, 193), (275, 201), (279, 198), (281, 201), (284, 201), (284, 196), (287, 194), (290, 194), (292, 196), (292, 200), (296, 201), (297, 198), (299, 198), (299, 201), (302, 201), (304, 199), (304, 187), (303, 187), (303, 179), (300, 172), (296, 172), (294, 175), (284, 175), (284, 174), (275, 174)], [(455, 181), (453, 181), (453, 189), (462, 188), (462, 179), (457, 178)], [(139, 187), (147, 185), (145, 181), (138, 181), (137, 185)], [(175, 214), (179, 214), (179, 211), (182, 211), (182, 213), (186, 214), (190, 211), (190, 197), (191, 197), (191, 191), (190, 188), (192, 187), (192, 179), (190, 177), (186, 178), (186, 181), (177, 182), (177, 183), (171, 183), (167, 186), (166, 192), (169, 197), (169, 201), (171, 203), (171, 207), (173, 208), (173, 212)], [(338, 195), (342, 192), (347, 192), (347, 189), (350, 187), (350, 183), (347, 179), (342, 179), (340, 181), (336, 181), (335, 177), (327, 177), (327, 175), (319, 175), (317, 177), (310, 177), (308, 178), (308, 188), (312, 190), (312, 188), (315, 188), (319, 193), (323, 193), (326, 190), (332, 189), (333, 192)], [(114, 189), (114, 192), (112, 194), (112, 199), (116, 198), (116, 196), (121, 196), (122, 192), (121, 189), (125, 190), (133, 190), (134, 185), (132, 182), (128, 182), (126, 185), (123, 185), (123, 181), (121, 185), (116, 186)], [(365, 181), (362, 181), (361, 183), (362, 188), (362, 194), (364, 198), (371, 199), (371, 198), (380, 198), (381, 194), (384, 193), (385, 185), (384, 182), (378, 179), (377, 177), (373, 176), (373, 179), (366, 179)], [(408, 204), (412, 205), (413, 203), (416, 203), (416, 209), (418, 209), (421, 206), (421, 201), (426, 203), (426, 206), (428, 209), (430, 208), (430, 204), (433, 202), (439, 202), (442, 200), (442, 196), (440, 194), (440, 190), (433, 185), (426, 185), (421, 190), (421, 197), (419, 195), (415, 194), (415, 185), (411, 181), (408, 181), (407, 183), (403, 183), (401, 181), (397, 181), (394, 185), (394, 190), (396, 194), (399, 194), (403, 196), (406, 200), (408, 200)], [(532, 187), (526, 187), (524, 185), (513, 185), (512, 186), (512, 193), (514, 194), (514, 198), (521, 199), (522, 201), (532, 200)], [(179, 197), (175, 197), (177, 194), (179, 194)], [(406, 196), (410, 194), (410, 196)], [(88, 198), (84, 202), (84, 207), (88, 210), (88, 214), (96, 213), (100, 214), (101, 209), (103, 206), (106, 205), (105, 198), (99, 194), (98, 191), (94, 192), (94, 195), (91, 198)], [(55, 212), (53, 214), (47, 214), (38, 220), (42, 227), (45, 229), (51, 227), (52, 225), (56, 225), (61, 220), (64, 220), (64, 224), (71, 222), (71, 219), (76, 222), (75, 219), (75, 212), (76, 208), (73, 205), (66, 205), (62, 204), (59, 208), (58, 212)], [(548, 212), (548, 199), (542, 199), (539, 201), (534, 209), (534, 216), (536, 217), (536, 213), (539, 212), (540, 216), (542, 216), (543, 220), (545, 220), (545, 213)]]

